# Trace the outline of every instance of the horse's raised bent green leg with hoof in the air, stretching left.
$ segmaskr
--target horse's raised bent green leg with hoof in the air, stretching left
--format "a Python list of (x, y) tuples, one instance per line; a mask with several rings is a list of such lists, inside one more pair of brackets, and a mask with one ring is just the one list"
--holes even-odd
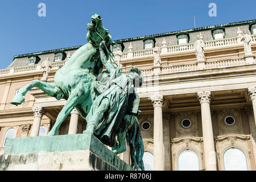
[(63, 92), (57, 88), (54, 84), (49, 84), (44, 81), (40, 80), (33, 80), (23, 88), (19, 90), (19, 92), (14, 96), (13, 100), (11, 101), (11, 104), (13, 105), (20, 105), (25, 100), (24, 96), (28, 92), (28, 90), (37, 87), (41, 90), (43, 90), (46, 94), (49, 96), (57, 98), (57, 100), (60, 100), (64, 97)]

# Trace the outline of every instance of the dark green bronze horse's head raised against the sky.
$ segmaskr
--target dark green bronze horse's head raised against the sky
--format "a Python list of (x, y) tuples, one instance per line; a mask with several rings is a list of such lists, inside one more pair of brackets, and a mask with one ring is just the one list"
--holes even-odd
[(112, 37), (109, 31), (102, 25), (102, 18), (100, 15), (94, 14), (92, 16), (92, 21), (87, 24), (88, 33), (86, 39), (88, 42), (92, 43), (95, 47), (99, 47), (100, 43), (104, 40), (106, 47), (110, 49), (110, 45), (115, 44), (112, 41)]

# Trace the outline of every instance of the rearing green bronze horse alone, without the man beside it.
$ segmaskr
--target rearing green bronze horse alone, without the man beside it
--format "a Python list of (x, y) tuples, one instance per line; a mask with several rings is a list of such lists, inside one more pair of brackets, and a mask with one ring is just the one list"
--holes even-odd
[[(100, 43), (104, 41), (109, 52), (111, 52), (110, 45), (115, 43), (112, 41), (109, 31), (102, 26), (100, 15), (94, 14), (91, 23), (88, 23), (87, 26), (88, 34), (86, 39), (88, 43), (77, 49), (67, 63), (55, 73), (54, 84), (33, 80), (30, 84), (20, 89), (20, 92), (11, 101), (13, 105), (22, 104), (24, 101), (23, 96), (34, 87), (43, 90), (57, 100), (61, 98), (67, 100), (48, 136), (56, 135), (61, 123), (74, 107), (85, 118), (93, 100), (96, 98), (92, 83), (103, 68), (99, 51)], [(107, 53), (109, 53), (108, 51)]]

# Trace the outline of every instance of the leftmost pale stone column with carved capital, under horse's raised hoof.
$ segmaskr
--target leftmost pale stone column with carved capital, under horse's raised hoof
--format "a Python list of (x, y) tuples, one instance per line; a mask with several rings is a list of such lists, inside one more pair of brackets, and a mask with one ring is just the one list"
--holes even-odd
[(34, 122), (32, 125), (30, 137), (38, 137), (41, 119), (43, 115), (46, 114), (46, 110), (44, 110), (42, 106), (36, 106), (33, 107), (32, 111), (34, 113)]

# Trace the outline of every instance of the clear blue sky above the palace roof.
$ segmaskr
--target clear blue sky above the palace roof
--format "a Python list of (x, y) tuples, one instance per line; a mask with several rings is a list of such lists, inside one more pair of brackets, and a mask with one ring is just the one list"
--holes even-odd
[[(46, 17), (38, 4), (46, 4)], [(210, 17), (216, 3), (217, 17)], [(13, 56), (86, 43), (86, 24), (93, 14), (102, 16), (113, 40), (169, 31), (256, 19), (256, 1), (232, 0), (1, 0), (0, 69)]]

